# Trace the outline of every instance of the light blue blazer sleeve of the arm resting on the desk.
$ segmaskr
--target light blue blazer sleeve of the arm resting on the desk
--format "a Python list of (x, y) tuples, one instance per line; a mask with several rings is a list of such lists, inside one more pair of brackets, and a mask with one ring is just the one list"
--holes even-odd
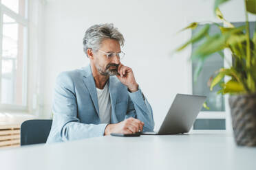
[(78, 119), (75, 86), (72, 76), (67, 72), (61, 73), (56, 78), (52, 112), (54, 117), (51, 131), (54, 138), (60, 138), (60, 141), (104, 135), (107, 124), (85, 124)]

